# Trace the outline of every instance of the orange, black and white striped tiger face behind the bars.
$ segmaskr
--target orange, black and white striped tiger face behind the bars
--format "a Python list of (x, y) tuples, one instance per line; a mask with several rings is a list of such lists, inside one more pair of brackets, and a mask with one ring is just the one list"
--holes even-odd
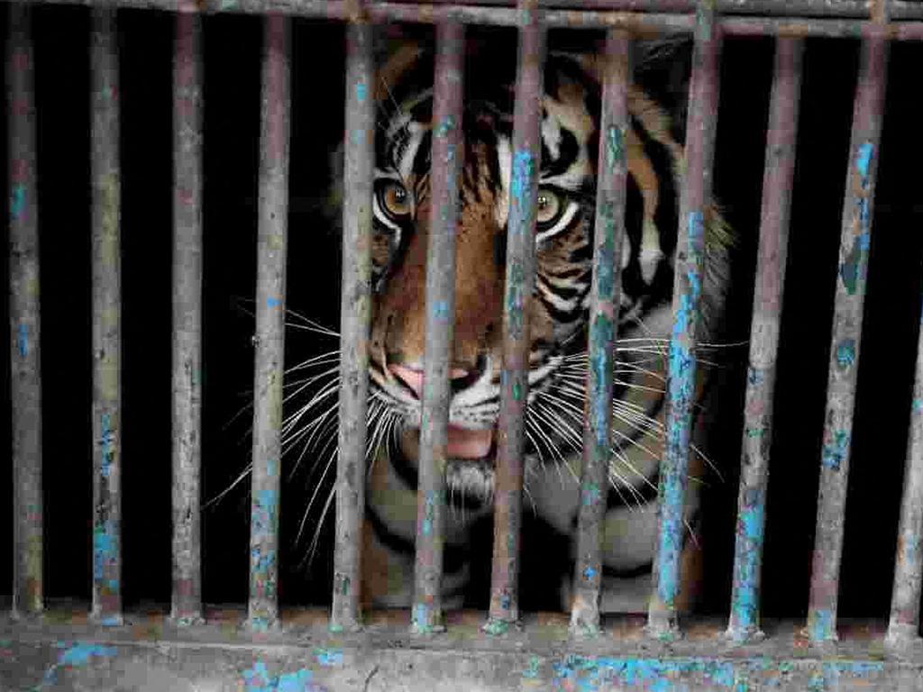
[[(421, 83), (432, 84), (432, 64), (417, 49), (410, 53), (395, 56), (380, 78), (369, 376), (373, 400), (397, 419), (402, 431), (396, 453), (413, 467), (423, 393), (433, 91), (428, 86), (420, 89)], [(447, 483), (450, 496), (483, 501), (493, 488), (500, 402), (514, 74), (510, 70), (498, 76), (496, 66), (490, 71), (469, 66), (468, 75)], [(660, 323), (669, 316), (669, 257), (677, 227), (682, 149), (670, 134), (665, 113), (637, 89), (629, 92), (629, 111), (620, 332), (630, 336), (646, 329), (645, 333), (660, 334), (665, 332)], [(582, 387), (572, 359), (585, 350), (599, 112), (593, 63), (549, 55), (542, 99), (535, 280), (527, 314), (531, 343), (526, 438), (532, 457), (563, 459), (564, 447), (579, 448), (579, 440), (575, 445), (572, 439), (574, 426), (562, 428), (547, 420), (553, 414), (543, 409), (541, 400)], [(649, 384), (662, 388), (662, 382)], [(577, 400), (567, 404), (582, 409)], [(576, 436), (581, 433), (576, 431)]]

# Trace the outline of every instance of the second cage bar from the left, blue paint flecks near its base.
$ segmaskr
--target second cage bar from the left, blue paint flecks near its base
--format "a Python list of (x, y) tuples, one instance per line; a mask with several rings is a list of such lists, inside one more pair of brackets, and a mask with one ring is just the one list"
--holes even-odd
[(93, 606), (122, 622), (121, 175), (118, 47), (114, 8), (92, 11)]

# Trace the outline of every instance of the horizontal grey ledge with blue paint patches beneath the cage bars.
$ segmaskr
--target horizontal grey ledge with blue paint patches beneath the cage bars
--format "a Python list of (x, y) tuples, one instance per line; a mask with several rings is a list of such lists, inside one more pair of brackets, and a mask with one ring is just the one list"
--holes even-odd
[(171, 692), (328, 690), (914, 690), (923, 667), (884, 652), (880, 631), (820, 656), (798, 626), (772, 623), (759, 646), (729, 648), (721, 625), (700, 624), (672, 645), (643, 637), (640, 621), (607, 623), (599, 638), (568, 637), (567, 620), (492, 637), (480, 614), (450, 619), (438, 638), (408, 634), (405, 613), (373, 618), (362, 633), (331, 635), (322, 614), (283, 618), (254, 633), (237, 614), (177, 628), (165, 617), (126, 626), (14, 625), (0, 615), (0, 688)]

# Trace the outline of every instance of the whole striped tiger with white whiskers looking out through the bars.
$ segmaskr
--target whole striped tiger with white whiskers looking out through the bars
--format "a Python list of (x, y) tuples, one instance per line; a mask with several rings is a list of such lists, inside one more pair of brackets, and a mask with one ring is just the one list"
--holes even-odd
[[(598, 64), (588, 56), (554, 52), (545, 62), (535, 280), (528, 311), (520, 579), (520, 603), (526, 609), (569, 607), (587, 370), (601, 96)], [(483, 607), (488, 591), (515, 60), (499, 61), (480, 49), (469, 50), (466, 75), (446, 450), (449, 507), (442, 593), (447, 608)], [(409, 607), (430, 233), (432, 51), (407, 43), (383, 61), (376, 100), (370, 466), (362, 592), (366, 607)], [(684, 169), (675, 119), (665, 108), (631, 86), (629, 114), (627, 233), (621, 256), (603, 612), (644, 611), (651, 591), (658, 468), (664, 448), (665, 354)], [(730, 235), (717, 210), (707, 215), (705, 241), (701, 343), (713, 338), (724, 303)], [(335, 353), (306, 365), (330, 366), (334, 360)], [(330, 468), (335, 455), (336, 368), (308, 379), (317, 381), (320, 391), (307, 403), (302, 401), (285, 432), (290, 445), (315, 454), (321, 450), (320, 463), (326, 456)], [(701, 473), (701, 462), (702, 455), (695, 452), (690, 476)], [(699, 505), (697, 486), (690, 483), (690, 531)], [(701, 571), (697, 555), (697, 542), (687, 540), (680, 603), (688, 604), (695, 595)]]

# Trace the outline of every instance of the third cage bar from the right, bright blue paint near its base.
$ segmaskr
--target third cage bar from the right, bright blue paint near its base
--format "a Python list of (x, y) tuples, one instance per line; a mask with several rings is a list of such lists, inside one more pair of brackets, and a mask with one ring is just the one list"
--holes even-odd
[(744, 435), (737, 495), (737, 543), (728, 637), (752, 641), (760, 631), (760, 570), (773, 435), (775, 358), (779, 347), (788, 221), (795, 171), (801, 39), (779, 39), (762, 178), (760, 247), (753, 292)]

